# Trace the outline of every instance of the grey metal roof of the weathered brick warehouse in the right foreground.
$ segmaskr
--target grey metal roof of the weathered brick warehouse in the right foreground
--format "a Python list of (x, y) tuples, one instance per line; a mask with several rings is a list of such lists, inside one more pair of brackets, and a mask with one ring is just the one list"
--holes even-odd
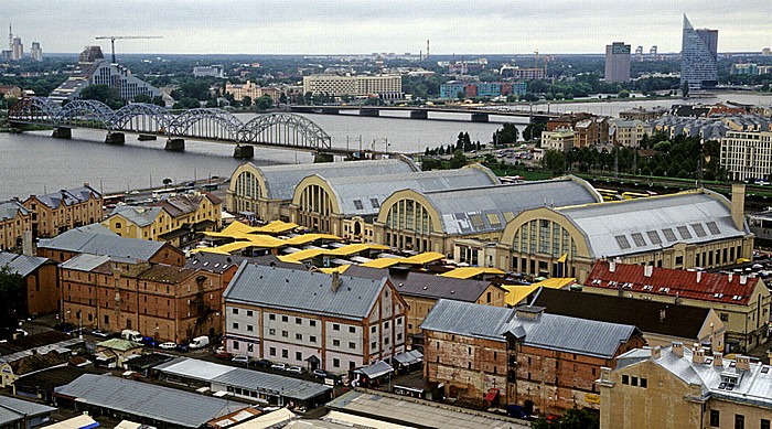
[(452, 300), (439, 300), (421, 329), (504, 342), (504, 333), (525, 331), (525, 344), (589, 356), (611, 358), (620, 344), (639, 333), (632, 325), (597, 322), (543, 313), (517, 318), (516, 310)]

